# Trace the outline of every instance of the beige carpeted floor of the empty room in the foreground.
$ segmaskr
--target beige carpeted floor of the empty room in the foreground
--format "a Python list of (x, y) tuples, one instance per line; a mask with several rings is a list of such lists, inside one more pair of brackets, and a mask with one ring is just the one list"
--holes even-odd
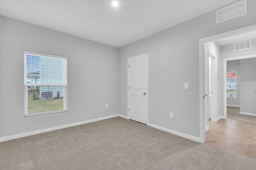
[(1, 170), (246, 169), (256, 160), (120, 117), (0, 143)]

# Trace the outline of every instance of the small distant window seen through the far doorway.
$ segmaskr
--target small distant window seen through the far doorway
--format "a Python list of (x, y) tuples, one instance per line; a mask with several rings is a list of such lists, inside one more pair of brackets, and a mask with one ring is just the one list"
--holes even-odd
[(236, 98), (236, 72), (227, 72), (227, 98)]

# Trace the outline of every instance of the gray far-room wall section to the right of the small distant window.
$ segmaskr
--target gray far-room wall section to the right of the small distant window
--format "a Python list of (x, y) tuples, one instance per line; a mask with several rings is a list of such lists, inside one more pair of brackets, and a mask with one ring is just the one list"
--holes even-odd
[(240, 60), (240, 111), (256, 114), (256, 58)]

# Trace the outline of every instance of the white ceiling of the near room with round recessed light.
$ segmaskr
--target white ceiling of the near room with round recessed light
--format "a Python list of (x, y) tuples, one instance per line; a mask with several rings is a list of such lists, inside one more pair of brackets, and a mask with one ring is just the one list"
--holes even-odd
[(1, 0), (0, 14), (122, 47), (236, 0)]

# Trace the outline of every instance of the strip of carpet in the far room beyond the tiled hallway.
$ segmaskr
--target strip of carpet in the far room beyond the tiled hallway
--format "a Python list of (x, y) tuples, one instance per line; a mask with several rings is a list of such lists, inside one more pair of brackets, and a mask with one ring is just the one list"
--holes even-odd
[(239, 112), (240, 112), (240, 107), (227, 106), (227, 118), (228, 119), (249, 121), (252, 123), (256, 123), (256, 116), (242, 115), (242, 114), (239, 114)]

